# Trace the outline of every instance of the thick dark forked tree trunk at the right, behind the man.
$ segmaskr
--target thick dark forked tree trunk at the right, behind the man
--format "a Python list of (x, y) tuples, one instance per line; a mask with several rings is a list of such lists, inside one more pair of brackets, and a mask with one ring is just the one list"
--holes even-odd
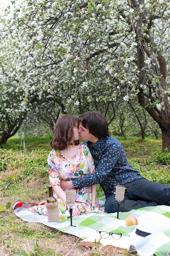
[[(150, 57), (153, 52), (152, 49), (145, 49), (146, 54)], [(162, 149), (168, 148), (170, 150), (170, 104), (168, 102), (168, 95), (165, 93), (166, 91), (166, 62), (163, 56), (159, 55), (157, 52), (157, 60), (159, 66), (157, 65), (155, 68), (156, 75), (159, 77), (159, 82), (157, 83), (157, 93), (159, 98), (159, 103), (163, 103), (163, 108), (159, 110), (156, 106), (153, 106), (151, 103), (152, 97), (150, 97), (151, 101), (148, 101), (148, 97), (144, 94), (144, 90), (140, 88), (140, 84), (149, 84), (146, 81), (146, 71), (143, 69), (144, 67), (144, 54), (139, 47), (137, 50), (138, 53), (138, 68), (139, 68), (139, 85), (137, 86), (139, 89), (139, 93), (137, 94), (139, 104), (145, 108), (145, 110), (149, 113), (149, 115), (159, 124), (159, 127), (162, 132)], [(156, 61), (156, 57), (155, 57)], [(150, 88), (151, 89), (151, 88)], [(150, 103), (151, 102), (151, 103)], [(154, 103), (154, 101), (153, 101)], [(156, 105), (156, 104), (155, 104)]]

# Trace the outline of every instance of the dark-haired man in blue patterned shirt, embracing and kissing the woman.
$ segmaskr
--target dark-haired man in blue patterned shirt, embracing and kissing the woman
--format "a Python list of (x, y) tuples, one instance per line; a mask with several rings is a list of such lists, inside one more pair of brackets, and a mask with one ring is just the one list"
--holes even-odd
[(122, 144), (108, 134), (107, 120), (100, 112), (91, 111), (80, 115), (78, 131), (81, 139), (88, 141), (95, 162), (95, 173), (62, 181), (63, 190), (100, 183), (106, 196), (105, 210), (108, 213), (117, 211), (117, 185), (126, 187), (121, 202), (122, 212), (161, 204), (170, 206), (170, 187), (146, 180), (130, 166)]

